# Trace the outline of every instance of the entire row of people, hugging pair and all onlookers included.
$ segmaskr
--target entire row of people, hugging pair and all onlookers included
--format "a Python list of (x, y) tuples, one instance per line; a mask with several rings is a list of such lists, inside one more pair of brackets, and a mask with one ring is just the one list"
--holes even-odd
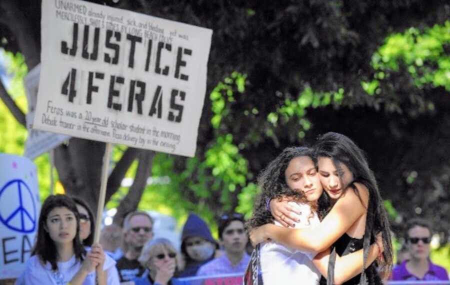
[[(248, 221), (239, 213), (220, 216), (215, 240), (191, 213), (180, 249), (153, 238), (154, 220), (143, 211), (128, 213), (122, 225), (103, 227), (100, 242), (93, 243), (95, 220), (87, 204), (51, 195), (16, 284), (170, 285), (173, 279), (219, 275), (236, 275), (231, 283), (242, 284), (254, 256), (259, 274), (250, 274), (245, 284), (448, 281), (445, 269), (429, 258), (432, 228), (419, 219), (407, 223), (392, 270), (391, 232), (377, 184), (348, 137), (327, 133), (312, 148), (286, 148), (257, 182), (261, 193)], [(250, 258), (252, 250), (257, 255)]]

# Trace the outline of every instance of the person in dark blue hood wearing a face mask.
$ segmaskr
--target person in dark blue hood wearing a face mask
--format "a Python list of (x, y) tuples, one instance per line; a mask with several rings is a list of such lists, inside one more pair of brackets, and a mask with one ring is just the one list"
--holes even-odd
[(206, 223), (197, 215), (189, 214), (181, 233), (181, 253), (185, 266), (177, 277), (195, 276), (200, 266), (214, 258), (216, 249), (217, 242), (212, 238)]

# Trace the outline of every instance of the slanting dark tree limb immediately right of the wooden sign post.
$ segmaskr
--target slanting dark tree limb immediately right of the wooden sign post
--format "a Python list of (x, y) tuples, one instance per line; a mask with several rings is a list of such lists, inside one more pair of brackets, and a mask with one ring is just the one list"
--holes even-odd
[(120, 160), (115, 164), (114, 169), (108, 177), (108, 185), (106, 188), (105, 201), (109, 201), (111, 196), (118, 190), (122, 182), (123, 177), (125, 177), (126, 171), (136, 159), (139, 150), (136, 148), (128, 147), (123, 153)]

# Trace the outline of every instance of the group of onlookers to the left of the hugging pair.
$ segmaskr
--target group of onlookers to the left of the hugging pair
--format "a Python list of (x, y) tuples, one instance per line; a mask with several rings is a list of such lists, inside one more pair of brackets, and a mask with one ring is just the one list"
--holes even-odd
[(167, 285), (172, 278), (242, 274), (249, 261), (248, 236), (241, 214), (223, 215), (219, 240), (191, 213), (183, 226), (181, 248), (153, 239), (152, 217), (126, 215), (123, 225), (103, 227), (93, 243), (94, 216), (87, 204), (66, 195), (50, 195), (42, 204), (37, 238), (17, 285)]

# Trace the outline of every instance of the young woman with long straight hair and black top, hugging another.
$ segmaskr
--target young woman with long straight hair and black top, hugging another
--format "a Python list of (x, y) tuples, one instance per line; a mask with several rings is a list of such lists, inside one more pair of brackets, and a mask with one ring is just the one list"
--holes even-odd
[[(320, 182), (331, 201), (328, 214), (313, 229), (281, 228), (271, 224), (261, 226), (250, 233), (252, 243), (272, 239), (288, 247), (315, 252), (332, 247), (328, 284), (334, 284), (333, 278), (336, 278), (333, 273), (335, 253), (344, 256), (363, 249), (365, 270), (344, 284), (382, 284), (379, 272), (387, 277), (392, 267), (389, 223), (374, 175), (362, 150), (348, 137), (332, 132), (321, 136), (314, 150)], [(270, 205), (276, 208), (272, 211), (275, 220), (285, 224), (289, 215), (286, 209), (291, 207), (277, 199), (272, 199)], [(384, 248), (382, 268), (379, 263), (368, 266), (370, 263), (367, 262), (369, 245), (376, 235), (381, 236)]]

